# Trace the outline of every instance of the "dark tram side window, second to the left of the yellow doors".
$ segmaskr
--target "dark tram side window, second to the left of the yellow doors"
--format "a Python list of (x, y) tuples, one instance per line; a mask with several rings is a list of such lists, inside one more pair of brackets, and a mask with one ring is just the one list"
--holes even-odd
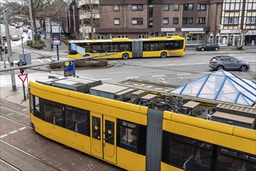
[(44, 99), (44, 120), (63, 127), (62, 104)]

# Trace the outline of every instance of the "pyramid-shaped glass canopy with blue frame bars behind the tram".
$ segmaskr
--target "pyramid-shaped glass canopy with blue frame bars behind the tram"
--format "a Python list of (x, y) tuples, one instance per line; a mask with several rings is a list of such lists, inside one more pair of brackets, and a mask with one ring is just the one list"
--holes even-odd
[(256, 102), (256, 82), (223, 70), (204, 75), (170, 92), (245, 106), (253, 106)]

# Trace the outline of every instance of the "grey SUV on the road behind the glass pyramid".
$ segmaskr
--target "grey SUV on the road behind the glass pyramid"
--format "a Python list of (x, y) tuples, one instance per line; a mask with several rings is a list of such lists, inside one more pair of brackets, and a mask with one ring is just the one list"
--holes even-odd
[(216, 56), (210, 60), (209, 67), (215, 70), (240, 70), (245, 72), (250, 69), (250, 63), (230, 56)]

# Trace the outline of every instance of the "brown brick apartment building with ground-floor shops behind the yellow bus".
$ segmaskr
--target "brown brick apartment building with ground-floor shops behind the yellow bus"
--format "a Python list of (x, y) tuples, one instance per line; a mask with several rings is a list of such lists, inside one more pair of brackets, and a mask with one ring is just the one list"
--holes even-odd
[(186, 44), (215, 41), (223, 1), (100, 0), (97, 39), (179, 34)]

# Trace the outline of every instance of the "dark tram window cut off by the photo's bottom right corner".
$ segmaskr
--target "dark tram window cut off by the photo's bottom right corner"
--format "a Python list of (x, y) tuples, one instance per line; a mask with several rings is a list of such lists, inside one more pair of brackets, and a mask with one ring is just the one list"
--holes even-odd
[(256, 156), (233, 151), (228, 148), (219, 148), (218, 170), (255, 170)]

